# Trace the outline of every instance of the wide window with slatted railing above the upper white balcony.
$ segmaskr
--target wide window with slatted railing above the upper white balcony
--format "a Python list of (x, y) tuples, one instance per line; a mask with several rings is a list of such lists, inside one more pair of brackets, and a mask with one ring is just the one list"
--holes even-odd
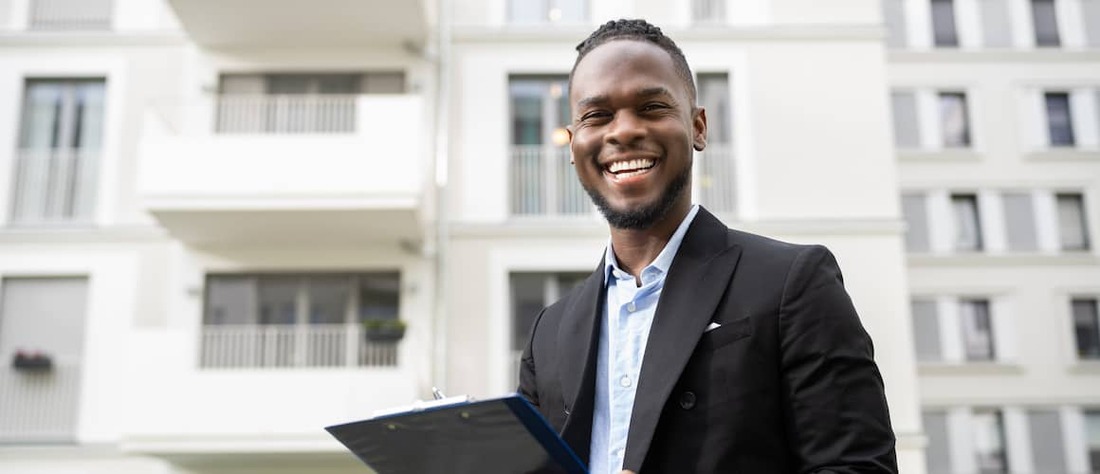
[(402, 93), (404, 73), (226, 74), (219, 133), (351, 133), (360, 93)]

